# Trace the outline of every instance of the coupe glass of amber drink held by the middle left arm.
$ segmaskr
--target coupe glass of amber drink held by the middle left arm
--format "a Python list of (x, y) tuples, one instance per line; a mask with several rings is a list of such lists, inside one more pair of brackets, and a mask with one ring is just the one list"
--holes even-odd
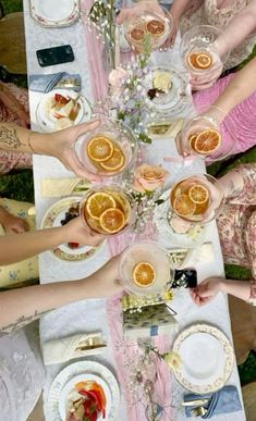
[[(109, 194), (114, 199), (115, 208), (123, 212), (125, 218), (125, 224), (121, 227), (120, 231), (113, 232), (113, 233), (106, 232), (100, 226), (99, 218), (96, 219), (89, 215), (86, 205), (87, 205), (88, 198), (95, 193)], [(125, 191), (123, 191), (117, 185), (109, 184), (109, 185), (90, 188), (86, 193), (86, 195), (84, 196), (84, 198), (80, 203), (80, 215), (83, 219), (83, 222), (86, 225), (86, 227), (89, 230), (89, 232), (92, 232), (93, 234), (101, 234), (103, 236), (112, 237), (114, 235), (124, 233), (126, 230), (131, 227), (131, 225), (134, 223), (135, 210), (132, 203), (132, 199), (125, 194)]]

